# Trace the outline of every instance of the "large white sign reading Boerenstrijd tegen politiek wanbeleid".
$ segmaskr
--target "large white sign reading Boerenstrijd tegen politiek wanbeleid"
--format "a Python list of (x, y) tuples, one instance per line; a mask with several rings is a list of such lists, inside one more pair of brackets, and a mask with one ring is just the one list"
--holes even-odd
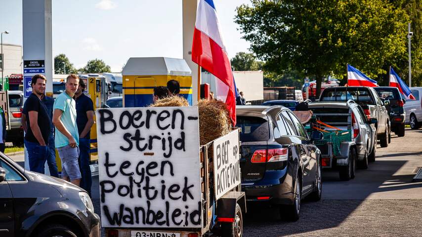
[(103, 227), (201, 228), (198, 107), (96, 111)]

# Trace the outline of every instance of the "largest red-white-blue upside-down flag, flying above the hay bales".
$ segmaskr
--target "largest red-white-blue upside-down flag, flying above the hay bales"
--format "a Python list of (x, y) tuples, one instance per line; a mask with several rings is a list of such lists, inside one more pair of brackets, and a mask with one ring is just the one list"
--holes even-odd
[(217, 78), (215, 98), (227, 104), (233, 126), (236, 125), (233, 73), (212, 0), (200, 0), (198, 4), (193, 33), (192, 61)]

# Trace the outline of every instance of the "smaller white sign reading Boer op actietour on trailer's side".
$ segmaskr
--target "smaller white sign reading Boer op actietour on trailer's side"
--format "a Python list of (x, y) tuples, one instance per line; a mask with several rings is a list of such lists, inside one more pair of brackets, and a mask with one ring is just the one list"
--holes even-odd
[(215, 139), (212, 145), (214, 193), (218, 199), (240, 184), (239, 130)]

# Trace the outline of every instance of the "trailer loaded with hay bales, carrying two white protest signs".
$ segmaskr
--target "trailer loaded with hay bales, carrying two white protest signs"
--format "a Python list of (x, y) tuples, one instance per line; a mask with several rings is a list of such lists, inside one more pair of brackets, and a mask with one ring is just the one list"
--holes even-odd
[(183, 100), (96, 111), (106, 237), (243, 235), (239, 129), (223, 102)]

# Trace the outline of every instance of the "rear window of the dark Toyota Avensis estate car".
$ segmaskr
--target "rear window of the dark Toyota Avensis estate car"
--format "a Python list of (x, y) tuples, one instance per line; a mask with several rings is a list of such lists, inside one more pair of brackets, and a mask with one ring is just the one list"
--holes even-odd
[(242, 128), (240, 140), (242, 142), (258, 142), (269, 139), (269, 124), (266, 119), (250, 116), (236, 118), (236, 127)]

